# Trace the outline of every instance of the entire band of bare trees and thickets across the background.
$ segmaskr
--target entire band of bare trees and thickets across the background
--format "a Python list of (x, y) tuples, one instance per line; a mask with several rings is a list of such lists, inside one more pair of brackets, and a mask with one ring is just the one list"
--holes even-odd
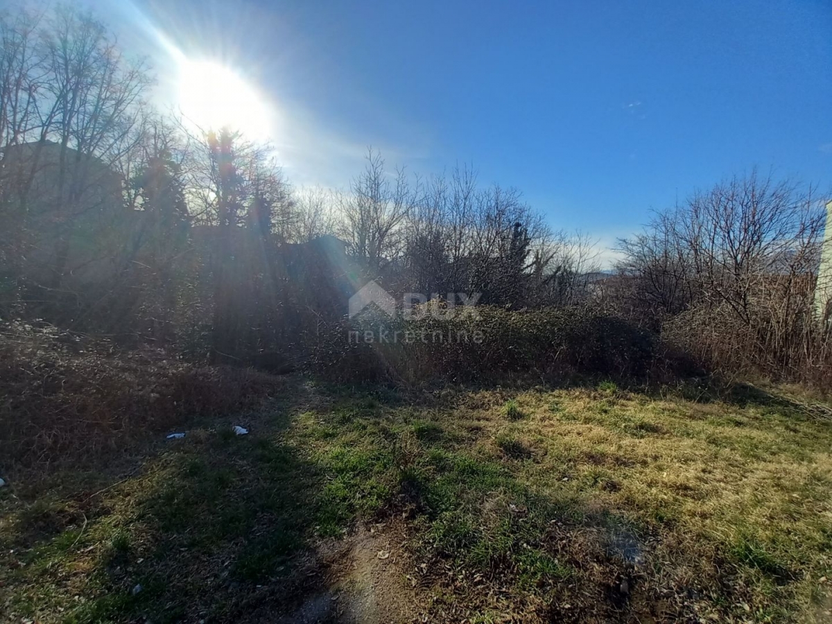
[(829, 375), (814, 190), (726, 181), (622, 240), (617, 275), (601, 275), (592, 240), (468, 166), (422, 178), (369, 150), (349, 188), (293, 188), (269, 146), (151, 106), (150, 69), (74, 8), (0, 13), (0, 45), (6, 319), (251, 364), (319, 347), (346, 298), (378, 280), (397, 295), (476, 294), (501, 310), (492, 319), (614, 314), (732, 374)]

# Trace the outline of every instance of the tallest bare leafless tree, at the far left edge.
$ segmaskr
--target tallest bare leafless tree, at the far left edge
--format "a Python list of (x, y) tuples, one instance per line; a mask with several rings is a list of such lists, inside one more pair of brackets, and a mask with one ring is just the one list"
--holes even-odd
[(121, 57), (101, 23), (72, 7), (4, 16), (0, 30), (2, 214), (34, 268), (16, 272), (41, 295), (77, 299), (63, 287), (78, 268), (67, 265), (71, 240), (83, 230), (97, 247), (86, 245), (83, 264), (109, 253), (102, 232), (123, 201), (114, 171), (141, 136), (151, 79), (141, 62)]

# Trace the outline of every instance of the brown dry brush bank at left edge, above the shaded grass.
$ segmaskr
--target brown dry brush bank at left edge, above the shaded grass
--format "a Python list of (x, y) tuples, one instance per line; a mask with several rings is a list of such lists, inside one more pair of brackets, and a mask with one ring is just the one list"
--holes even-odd
[(279, 382), (205, 368), (161, 350), (28, 325), (0, 331), (0, 457), (8, 470), (101, 460), (196, 416), (256, 407)]

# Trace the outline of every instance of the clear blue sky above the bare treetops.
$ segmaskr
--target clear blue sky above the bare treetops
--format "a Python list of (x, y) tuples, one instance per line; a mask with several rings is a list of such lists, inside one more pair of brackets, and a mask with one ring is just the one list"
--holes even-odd
[(369, 145), (422, 174), (468, 162), (612, 245), (753, 166), (832, 182), (830, 0), (88, 2), (162, 100), (152, 32), (255, 84), (299, 185), (345, 186)]

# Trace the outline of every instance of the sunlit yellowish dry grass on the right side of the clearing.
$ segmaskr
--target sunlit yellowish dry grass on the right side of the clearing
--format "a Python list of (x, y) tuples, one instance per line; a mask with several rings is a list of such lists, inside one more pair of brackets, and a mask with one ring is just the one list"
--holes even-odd
[(513, 396), (528, 417), (509, 421), (498, 408), (507, 396), (463, 400), (463, 414), (485, 433), (483, 451), (504, 456), (493, 441), (509, 438), (527, 449), (513, 469), (537, 493), (646, 527), (658, 537), (652, 586), (730, 582), (735, 604), (725, 610), (688, 601), (717, 620), (746, 606), (752, 619), (776, 620), (784, 604), (800, 620), (828, 617), (818, 605), (829, 601), (821, 579), (832, 568), (832, 422), (755, 404), (587, 389)]

